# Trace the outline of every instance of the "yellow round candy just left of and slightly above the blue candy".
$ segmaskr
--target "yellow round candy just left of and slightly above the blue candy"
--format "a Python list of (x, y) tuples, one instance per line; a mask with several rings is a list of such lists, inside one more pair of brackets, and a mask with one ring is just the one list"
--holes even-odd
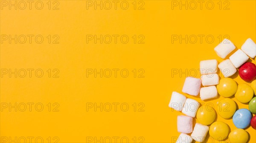
[(230, 98), (224, 98), (217, 103), (217, 112), (224, 119), (231, 118), (236, 112), (236, 102)]

